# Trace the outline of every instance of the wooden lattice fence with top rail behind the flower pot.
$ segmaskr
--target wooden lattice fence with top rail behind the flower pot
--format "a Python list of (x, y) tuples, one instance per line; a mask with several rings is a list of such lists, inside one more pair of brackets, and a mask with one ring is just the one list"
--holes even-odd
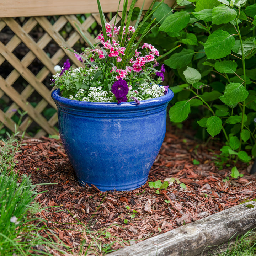
[[(118, 1), (101, 2), (103, 10), (117, 10)], [(173, 2), (167, 1), (170, 6)], [(54, 74), (54, 66), (62, 66), (67, 58), (73, 66), (81, 66), (65, 48), (79, 52), (81, 46), (87, 46), (79, 29), (92, 44), (97, 42), (95, 31), (100, 30), (100, 16), (96, 11), (96, 0), (91, 3), (0, 0), (0, 130), (6, 127), (14, 132), (19, 110), (27, 112), (19, 126), (21, 131), (28, 131), (27, 136), (39, 138), (58, 133), (49, 79)], [(121, 15), (117, 14), (117, 22)], [(106, 17), (113, 23), (115, 16)]]

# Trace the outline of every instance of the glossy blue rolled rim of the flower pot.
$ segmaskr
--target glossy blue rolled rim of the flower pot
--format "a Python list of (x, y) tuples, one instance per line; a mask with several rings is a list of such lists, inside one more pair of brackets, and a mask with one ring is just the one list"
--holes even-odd
[(140, 101), (140, 104), (137, 105), (135, 101), (131, 102), (121, 102), (119, 104), (115, 102), (91, 102), (91, 101), (78, 101), (78, 100), (70, 100), (68, 98), (64, 98), (60, 96), (60, 89), (55, 89), (52, 91), (51, 94), (53, 100), (58, 102), (60, 106), (65, 106), (69, 108), (87, 108), (87, 109), (94, 109), (94, 110), (139, 110), (149, 107), (156, 107), (160, 105), (167, 104), (169, 101), (172, 100), (174, 97), (174, 93), (168, 88), (167, 94), (153, 98), (149, 100)]

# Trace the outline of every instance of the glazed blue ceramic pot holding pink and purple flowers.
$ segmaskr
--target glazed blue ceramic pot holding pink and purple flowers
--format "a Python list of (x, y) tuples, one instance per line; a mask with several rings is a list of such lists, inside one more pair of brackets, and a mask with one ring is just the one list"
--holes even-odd
[(78, 182), (101, 191), (134, 190), (145, 184), (166, 132), (166, 95), (135, 102), (69, 100), (52, 92), (59, 133)]

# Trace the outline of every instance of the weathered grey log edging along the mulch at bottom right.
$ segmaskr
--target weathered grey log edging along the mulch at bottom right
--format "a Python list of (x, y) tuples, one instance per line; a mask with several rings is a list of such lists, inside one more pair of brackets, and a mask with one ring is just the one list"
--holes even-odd
[[(252, 204), (254, 208), (246, 207)], [(107, 256), (197, 256), (212, 246), (256, 227), (256, 202), (250, 201), (156, 235)]]

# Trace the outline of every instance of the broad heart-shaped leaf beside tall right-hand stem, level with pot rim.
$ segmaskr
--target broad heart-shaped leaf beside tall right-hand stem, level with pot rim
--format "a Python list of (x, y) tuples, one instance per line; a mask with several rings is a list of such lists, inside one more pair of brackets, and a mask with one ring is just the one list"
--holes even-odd
[(248, 95), (249, 92), (246, 90), (244, 85), (240, 83), (230, 83), (226, 85), (223, 96), (230, 102), (229, 105), (234, 105), (238, 102), (245, 101)]

